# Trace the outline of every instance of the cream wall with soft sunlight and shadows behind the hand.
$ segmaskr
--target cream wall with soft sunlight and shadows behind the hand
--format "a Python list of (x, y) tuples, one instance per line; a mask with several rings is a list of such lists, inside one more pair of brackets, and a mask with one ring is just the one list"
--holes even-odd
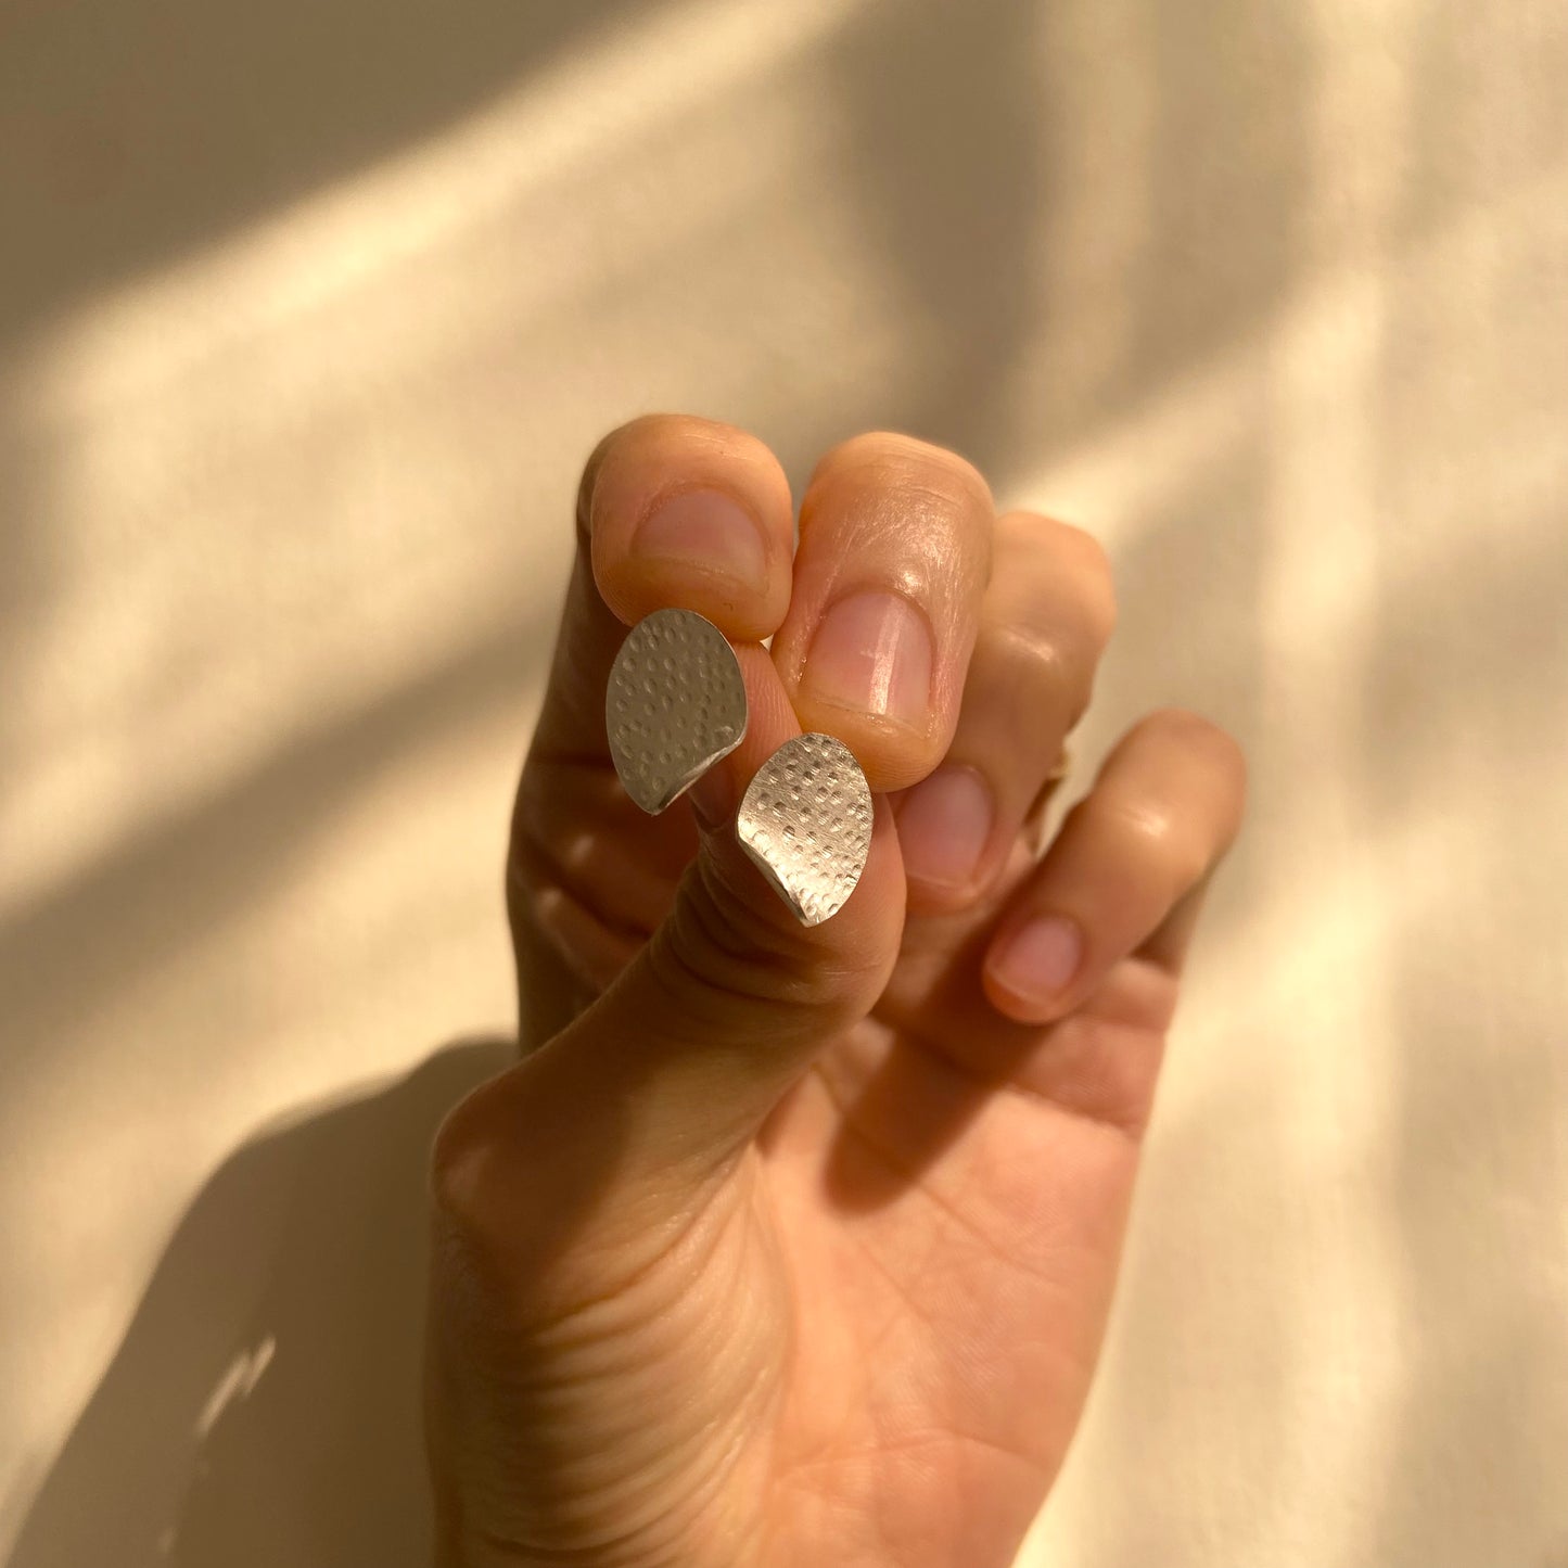
[(1029, 1563), (1568, 1563), (1552, 0), (13, 0), (0, 1562), (416, 1565), (579, 466), (891, 426), (1253, 760)]

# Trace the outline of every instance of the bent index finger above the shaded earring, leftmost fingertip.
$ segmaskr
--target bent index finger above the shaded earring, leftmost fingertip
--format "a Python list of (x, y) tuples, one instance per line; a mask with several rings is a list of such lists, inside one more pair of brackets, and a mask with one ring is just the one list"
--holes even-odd
[(732, 425), (651, 414), (594, 448), (577, 495), (577, 563), (535, 754), (607, 760), (604, 691), (626, 627), (696, 610), (735, 641), (770, 637), (790, 597), (789, 481)]

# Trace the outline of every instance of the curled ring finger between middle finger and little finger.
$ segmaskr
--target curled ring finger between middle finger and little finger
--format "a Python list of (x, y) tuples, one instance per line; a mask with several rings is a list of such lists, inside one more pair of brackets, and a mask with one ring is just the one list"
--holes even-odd
[(1036, 513), (997, 519), (953, 742), (895, 806), (911, 911), (956, 911), (994, 883), (1088, 706), (1113, 624), (1094, 539)]

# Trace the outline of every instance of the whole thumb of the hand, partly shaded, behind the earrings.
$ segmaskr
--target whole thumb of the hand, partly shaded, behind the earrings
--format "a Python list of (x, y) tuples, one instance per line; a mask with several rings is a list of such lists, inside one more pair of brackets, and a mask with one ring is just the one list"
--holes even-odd
[(671, 913), (575, 1022), (437, 1137), (441, 1209), (514, 1278), (541, 1279), (590, 1214), (630, 1228), (632, 1251), (655, 1245), (734, 1170), (812, 1057), (866, 1018), (897, 958), (905, 878), (883, 797), (859, 883), (820, 925), (800, 925), (742, 850), (745, 786), (800, 724), (767, 649), (735, 655), (746, 737), (693, 786), (701, 847)]

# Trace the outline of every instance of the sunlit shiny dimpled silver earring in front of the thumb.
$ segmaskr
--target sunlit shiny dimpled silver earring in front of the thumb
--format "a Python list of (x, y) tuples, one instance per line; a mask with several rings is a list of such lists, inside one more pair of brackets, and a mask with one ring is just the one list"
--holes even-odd
[(735, 834), (801, 925), (844, 908), (872, 847), (872, 792), (833, 735), (797, 735), (757, 770)]

